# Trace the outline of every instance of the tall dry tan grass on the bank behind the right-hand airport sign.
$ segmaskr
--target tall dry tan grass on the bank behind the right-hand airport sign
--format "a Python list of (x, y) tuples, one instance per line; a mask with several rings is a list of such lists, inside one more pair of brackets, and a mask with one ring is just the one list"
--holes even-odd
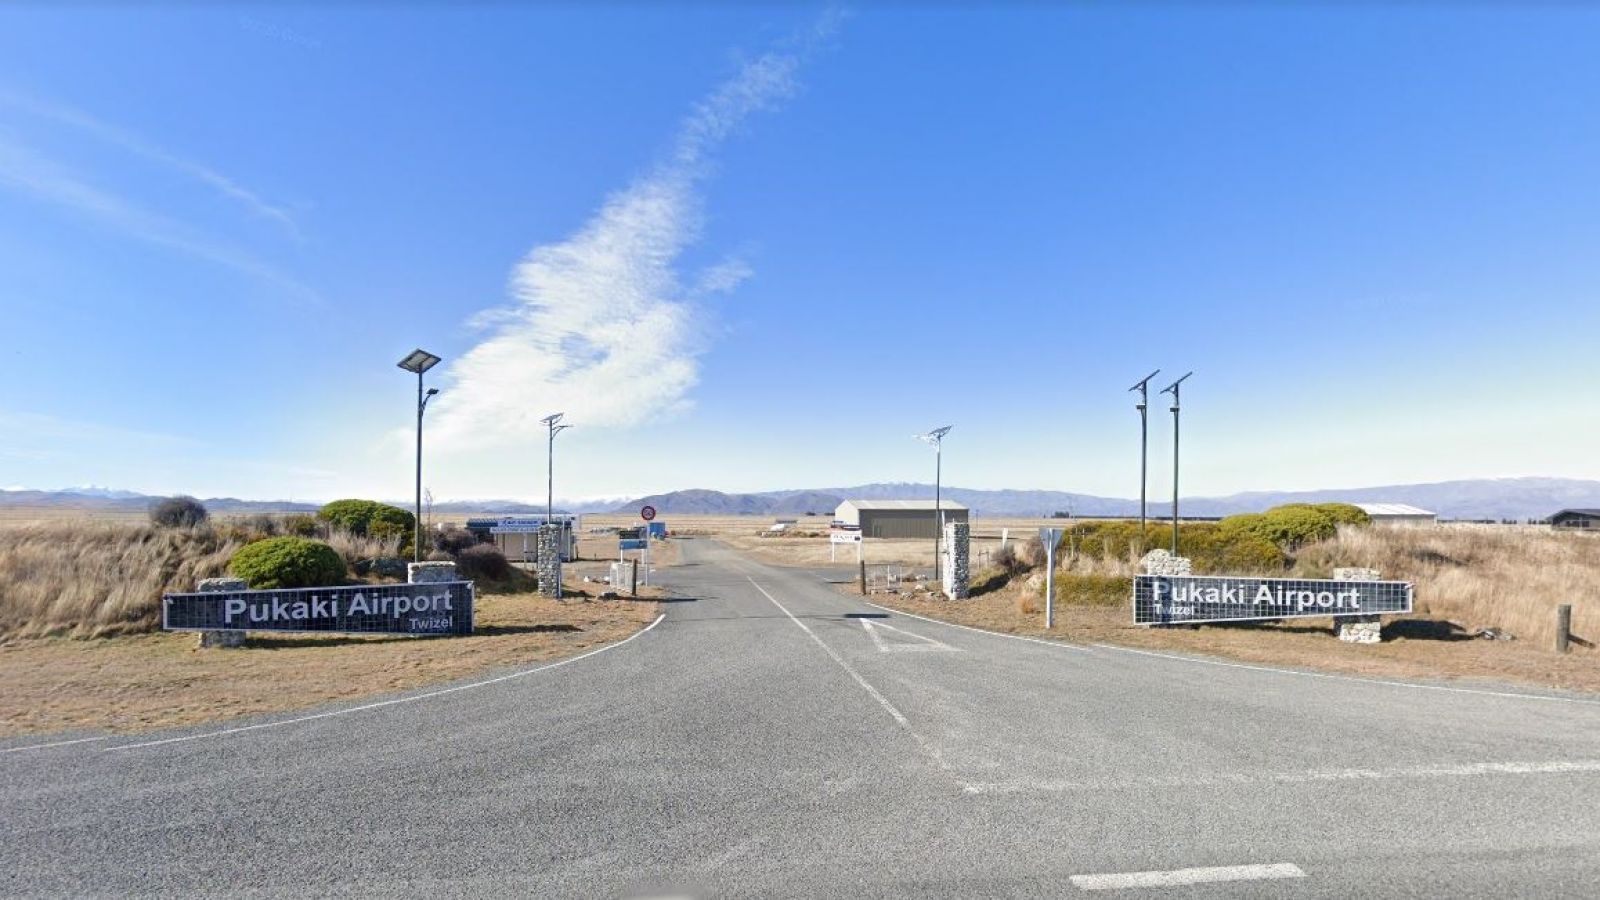
[(1302, 548), (1294, 573), (1325, 578), (1336, 565), (1414, 583), (1421, 613), (1544, 647), (1555, 641), (1555, 607), (1571, 604), (1573, 634), (1600, 641), (1600, 535), (1536, 525), (1341, 527), (1336, 538)]

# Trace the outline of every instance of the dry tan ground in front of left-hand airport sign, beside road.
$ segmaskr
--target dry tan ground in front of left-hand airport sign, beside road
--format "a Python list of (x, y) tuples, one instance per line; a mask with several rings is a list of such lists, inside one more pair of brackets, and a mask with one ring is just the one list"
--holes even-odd
[[(598, 589), (568, 588), (584, 593)], [(659, 604), (507, 594), (480, 596), (475, 612), (470, 637), (259, 634), (240, 650), (165, 633), (13, 639), (0, 644), (0, 737), (190, 725), (410, 690), (619, 641)]]

